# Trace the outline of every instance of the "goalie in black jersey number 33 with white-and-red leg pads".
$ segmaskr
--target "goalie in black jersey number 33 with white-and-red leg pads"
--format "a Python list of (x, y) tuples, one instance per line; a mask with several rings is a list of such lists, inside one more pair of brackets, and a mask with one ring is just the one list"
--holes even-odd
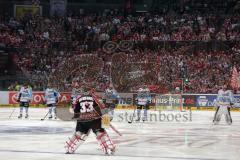
[(92, 130), (103, 152), (112, 155), (115, 152), (115, 145), (108, 136), (106, 130), (102, 128), (101, 110), (105, 105), (100, 103), (91, 92), (90, 87), (83, 86), (82, 94), (77, 98), (74, 106), (74, 118), (77, 120), (75, 133), (65, 144), (66, 153), (74, 153), (77, 148), (86, 140)]

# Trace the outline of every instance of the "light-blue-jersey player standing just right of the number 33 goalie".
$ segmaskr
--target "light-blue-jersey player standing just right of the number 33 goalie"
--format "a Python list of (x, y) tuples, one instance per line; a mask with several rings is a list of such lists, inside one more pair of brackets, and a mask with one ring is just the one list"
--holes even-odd
[(119, 96), (117, 94), (117, 91), (113, 88), (113, 85), (110, 84), (109, 87), (105, 90), (105, 95), (104, 95), (104, 104), (108, 108), (110, 121), (113, 120), (114, 109), (118, 103), (118, 98)]

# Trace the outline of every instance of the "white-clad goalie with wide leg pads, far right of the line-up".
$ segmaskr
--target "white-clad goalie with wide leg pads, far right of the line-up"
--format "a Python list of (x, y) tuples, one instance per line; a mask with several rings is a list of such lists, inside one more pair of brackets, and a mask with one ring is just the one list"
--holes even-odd
[(222, 115), (225, 115), (225, 120), (229, 125), (232, 124), (230, 108), (234, 105), (234, 97), (232, 91), (226, 90), (226, 88), (226, 85), (224, 85), (218, 91), (217, 99), (214, 102), (216, 112), (213, 118), (213, 123), (215, 125), (220, 122)]

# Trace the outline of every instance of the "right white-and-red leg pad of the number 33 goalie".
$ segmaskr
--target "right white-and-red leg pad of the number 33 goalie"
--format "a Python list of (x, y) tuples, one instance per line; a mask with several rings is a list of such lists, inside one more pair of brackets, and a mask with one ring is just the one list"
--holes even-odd
[(115, 145), (108, 136), (106, 131), (96, 132), (97, 140), (102, 148), (102, 151), (107, 155), (113, 155), (115, 152)]

